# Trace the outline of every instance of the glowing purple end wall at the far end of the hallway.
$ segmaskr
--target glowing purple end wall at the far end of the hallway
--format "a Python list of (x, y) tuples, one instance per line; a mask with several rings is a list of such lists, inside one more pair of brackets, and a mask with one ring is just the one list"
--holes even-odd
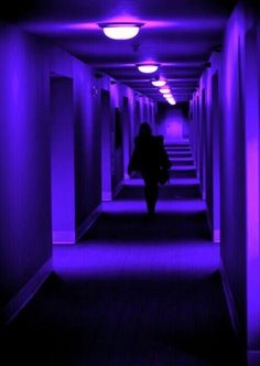
[(188, 108), (187, 103), (181, 103), (176, 106), (159, 104), (158, 132), (164, 136), (166, 143), (189, 139)]

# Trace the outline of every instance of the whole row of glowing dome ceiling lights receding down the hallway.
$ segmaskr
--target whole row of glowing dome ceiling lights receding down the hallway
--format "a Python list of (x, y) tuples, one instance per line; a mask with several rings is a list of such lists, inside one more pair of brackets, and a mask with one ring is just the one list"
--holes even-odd
[[(109, 23), (99, 23), (98, 25), (102, 29), (104, 34), (111, 40), (130, 40), (138, 35), (140, 28), (144, 23), (138, 22), (109, 22)], [(144, 74), (155, 73), (160, 64), (158, 63), (142, 63), (137, 64), (138, 69)], [(165, 97), (165, 99), (171, 104), (175, 105), (176, 101), (171, 94), (169, 87), (166, 87), (166, 80), (163, 78), (152, 80), (152, 85), (156, 87), (163, 87), (159, 89)]]

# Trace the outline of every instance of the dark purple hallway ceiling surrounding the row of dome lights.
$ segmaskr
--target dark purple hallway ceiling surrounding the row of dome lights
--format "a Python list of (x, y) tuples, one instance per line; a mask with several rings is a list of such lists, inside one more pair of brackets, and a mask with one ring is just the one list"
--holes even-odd
[[(212, 51), (221, 45), (235, 0), (28, 0), (23, 9), (9, 1), (4, 21), (44, 35), (71, 54), (132, 87), (164, 100), (150, 80), (164, 76), (176, 101), (187, 101), (198, 85)], [(2, 8), (1, 6), (0, 8)], [(14, 10), (15, 9), (15, 10)], [(113, 41), (97, 25), (119, 18), (143, 22), (132, 40)], [(141, 74), (136, 63), (160, 63), (155, 74)]]

